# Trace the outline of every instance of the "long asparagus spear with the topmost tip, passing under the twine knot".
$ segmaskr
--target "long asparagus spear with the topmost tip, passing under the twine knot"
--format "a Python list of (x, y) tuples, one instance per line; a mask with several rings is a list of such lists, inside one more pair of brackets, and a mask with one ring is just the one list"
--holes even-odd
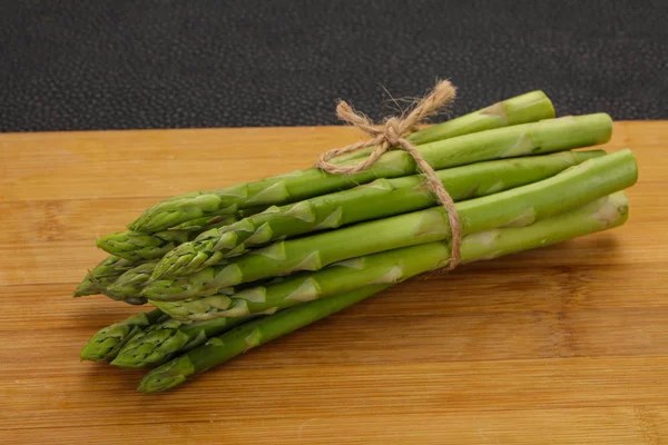
[[(609, 140), (612, 120), (606, 113), (548, 119), (459, 136), (419, 146), (436, 170), (497, 158), (564, 151)], [(352, 159), (342, 165), (355, 165)], [(295, 202), (377, 178), (415, 174), (415, 161), (405, 151), (386, 152), (373, 168), (354, 175), (333, 175), (312, 168), (222, 190), (174, 197), (147, 209), (130, 225), (136, 231), (159, 231), (213, 212), (236, 212), (248, 206)]]

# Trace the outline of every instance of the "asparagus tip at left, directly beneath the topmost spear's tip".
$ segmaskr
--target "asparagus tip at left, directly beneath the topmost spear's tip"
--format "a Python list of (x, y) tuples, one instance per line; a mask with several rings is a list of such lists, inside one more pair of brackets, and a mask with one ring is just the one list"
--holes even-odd
[[(234, 215), (215, 218), (206, 217), (206, 219), (207, 224), (205, 226), (197, 225), (195, 221), (188, 221), (190, 222), (190, 229), (163, 230), (155, 234), (132, 230), (121, 231), (99, 238), (96, 245), (111, 255), (131, 261), (157, 259), (161, 258), (176, 246), (190, 241), (204, 230), (224, 227), (238, 220)], [(200, 230), (194, 230), (191, 229), (193, 227), (199, 227)]]

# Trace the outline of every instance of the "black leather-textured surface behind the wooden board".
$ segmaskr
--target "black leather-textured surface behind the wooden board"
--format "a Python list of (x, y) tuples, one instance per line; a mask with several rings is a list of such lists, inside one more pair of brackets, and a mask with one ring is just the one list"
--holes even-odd
[(2, 131), (336, 123), (438, 77), (665, 119), (667, 73), (668, 0), (0, 0)]

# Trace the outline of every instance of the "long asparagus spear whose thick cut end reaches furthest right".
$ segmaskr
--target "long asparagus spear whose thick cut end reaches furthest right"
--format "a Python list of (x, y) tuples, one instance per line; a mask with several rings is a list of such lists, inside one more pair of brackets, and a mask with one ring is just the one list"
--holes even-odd
[[(637, 166), (630, 150), (589, 159), (549, 179), (455, 205), (462, 235), (547, 218), (631, 186)], [(554, 197), (559, 197), (556, 199)], [(219, 288), (330, 264), (377, 251), (448, 239), (444, 208), (436, 207), (337, 230), (274, 243), (226, 265), (149, 283), (141, 295), (179, 300), (215, 295)]]

